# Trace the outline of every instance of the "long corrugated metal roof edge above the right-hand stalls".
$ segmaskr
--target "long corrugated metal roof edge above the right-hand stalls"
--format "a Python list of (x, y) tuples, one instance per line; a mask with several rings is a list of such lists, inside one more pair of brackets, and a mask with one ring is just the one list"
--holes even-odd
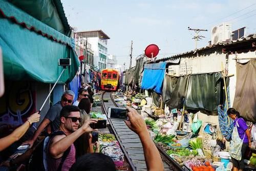
[(190, 54), (190, 53), (197, 53), (197, 52), (200, 52), (200, 51), (203, 51), (203, 50), (207, 50), (207, 49), (218, 48), (218, 47), (220, 47), (220, 46), (232, 46), (232, 45), (242, 44), (243, 42), (251, 41), (251, 40), (255, 40), (255, 41), (256, 41), (256, 34), (252, 34), (251, 36), (247, 36), (247, 37), (244, 37), (244, 38), (240, 38), (240, 39), (238, 39), (238, 40), (217, 42), (216, 44), (209, 45), (209, 46), (206, 46), (206, 47), (197, 49), (197, 50), (187, 51), (187, 52), (180, 53), (180, 54), (177, 54), (177, 55), (173, 55), (173, 56), (170, 56), (170, 57), (157, 59), (157, 60), (155, 60), (155, 61), (168, 60), (168, 59), (175, 58), (175, 57), (181, 57), (181, 56), (183, 56), (183, 55), (187, 55), (187, 54)]

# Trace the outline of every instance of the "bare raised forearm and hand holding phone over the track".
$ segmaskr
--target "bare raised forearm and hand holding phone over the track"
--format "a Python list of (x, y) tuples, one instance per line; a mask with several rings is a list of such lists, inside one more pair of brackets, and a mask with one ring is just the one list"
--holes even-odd
[(128, 119), (124, 120), (126, 125), (138, 134), (143, 146), (147, 170), (164, 170), (163, 162), (158, 149), (147, 131), (146, 123), (141, 115), (133, 108), (127, 107)]

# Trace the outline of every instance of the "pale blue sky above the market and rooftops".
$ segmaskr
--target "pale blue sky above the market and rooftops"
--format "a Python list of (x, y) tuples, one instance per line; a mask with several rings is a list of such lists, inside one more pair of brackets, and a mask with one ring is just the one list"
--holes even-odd
[(255, 0), (61, 0), (70, 26), (77, 31), (102, 30), (108, 40), (108, 54), (115, 55), (119, 65), (129, 68), (133, 40), (135, 58), (150, 44), (160, 52), (157, 58), (169, 57), (195, 49), (194, 31), (205, 36), (198, 48), (208, 45), (211, 29), (223, 22), (232, 30), (246, 27), (256, 33)]

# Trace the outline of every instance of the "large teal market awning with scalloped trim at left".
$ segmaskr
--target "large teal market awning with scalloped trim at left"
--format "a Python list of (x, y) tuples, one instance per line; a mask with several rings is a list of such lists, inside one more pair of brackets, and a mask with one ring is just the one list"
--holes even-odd
[(59, 58), (71, 58), (72, 62), (59, 83), (74, 78), (79, 61), (70, 37), (3, 0), (0, 0), (0, 23), (5, 79), (53, 83), (62, 71)]

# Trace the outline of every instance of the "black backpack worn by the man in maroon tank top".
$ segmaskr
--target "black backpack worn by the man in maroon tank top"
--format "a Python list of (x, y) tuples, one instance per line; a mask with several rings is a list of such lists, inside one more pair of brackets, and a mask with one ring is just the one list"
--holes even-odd
[[(57, 131), (52, 133), (49, 136), (49, 141), (48, 144), (46, 146), (46, 150), (48, 151), (48, 146), (49, 146), (49, 142), (52, 141), (53, 137), (56, 135), (63, 135), (65, 133), (63, 133), (62, 131)], [(27, 170), (31, 170), (31, 171), (46, 171), (45, 165), (44, 165), (44, 143), (46, 141), (46, 138), (44, 140), (42, 140), (37, 147), (35, 148), (35, 150), (33, 151), (29, 163), (28, 163), (28, 167)], [(61, 171), (62, 168), (62, 164), (65, 161), (65, 159), (67, 158), (67, 156), (69, 155), (70, 152), (70, 147), (64, 152), (62, 158), (61, 158), (61, 162), (59, 164), (59, 167), (57, 169), (57, 171)]]

